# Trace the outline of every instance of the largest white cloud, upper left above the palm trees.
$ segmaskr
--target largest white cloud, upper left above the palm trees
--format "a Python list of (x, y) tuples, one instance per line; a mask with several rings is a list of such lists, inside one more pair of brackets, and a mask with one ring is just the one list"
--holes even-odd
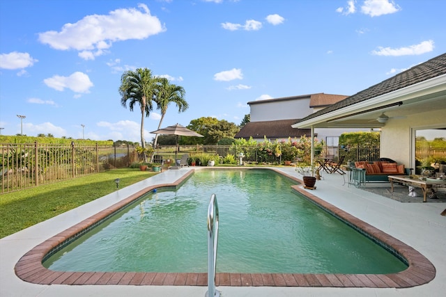
[(109, 15), (87, 15), (75, 24), (63, 25), (59, 32), (39, 33), (38, 40), (53, 49), (75, 49), (81, 58), (93, 60), (105, 54), (113, 42), (142, 40), (166, 30), (146, 4), (139, 4), (138, 8), (120, 8)]

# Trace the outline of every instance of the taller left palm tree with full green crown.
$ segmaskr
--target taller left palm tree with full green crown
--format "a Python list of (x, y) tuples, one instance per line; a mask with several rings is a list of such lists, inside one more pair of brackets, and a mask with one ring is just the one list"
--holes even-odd
[(152, 76), (151, 70), (147, 68), (138, 68), (137, 70), (125, 71), (121, 76), (121, 104), (133, 111), (134, 104), (139, 104), (141, 109), (141, 147), (146, 148), (144, 141), (144, 115), (148, 117), (153, 110), (152, 100), (155, 94), (156, 79)]

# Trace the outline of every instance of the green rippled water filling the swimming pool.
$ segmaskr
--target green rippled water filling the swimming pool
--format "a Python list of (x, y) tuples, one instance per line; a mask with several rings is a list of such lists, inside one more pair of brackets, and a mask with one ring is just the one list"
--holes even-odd
[(210, 195), (220, 209), (217, 272), (396, 273), (407, 268), (291, 190), (272, 170), (197, 170), (149, 193), (54, 253), (54, 271), (206, 272)]

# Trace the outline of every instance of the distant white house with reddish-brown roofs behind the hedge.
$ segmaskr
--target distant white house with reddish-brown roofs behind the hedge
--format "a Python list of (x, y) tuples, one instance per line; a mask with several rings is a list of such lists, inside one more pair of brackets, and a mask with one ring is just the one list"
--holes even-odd
[[(310, 136), (311, 129), (293, 129), (291, 125), (307, 115), (320, 111), (327, 106), (345, 99), (345, 95), (316, 93), (292, 97), (282, 97), (248, 102), (251, 121), (248, 122), (235, 138), (263, 141), (287, 140)], [(337, 139), (345, 131), (360, 129), (317, 129), (316, 136), (329, 146), (337, 147)]]

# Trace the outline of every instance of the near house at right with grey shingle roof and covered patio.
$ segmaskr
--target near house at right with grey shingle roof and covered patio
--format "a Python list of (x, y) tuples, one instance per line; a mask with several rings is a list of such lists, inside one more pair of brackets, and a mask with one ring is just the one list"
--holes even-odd
[(415, 168), (420, 131), (446, 136), (446, 54), (297, 120), (297, 129), (380, 128), (380, 156)]

